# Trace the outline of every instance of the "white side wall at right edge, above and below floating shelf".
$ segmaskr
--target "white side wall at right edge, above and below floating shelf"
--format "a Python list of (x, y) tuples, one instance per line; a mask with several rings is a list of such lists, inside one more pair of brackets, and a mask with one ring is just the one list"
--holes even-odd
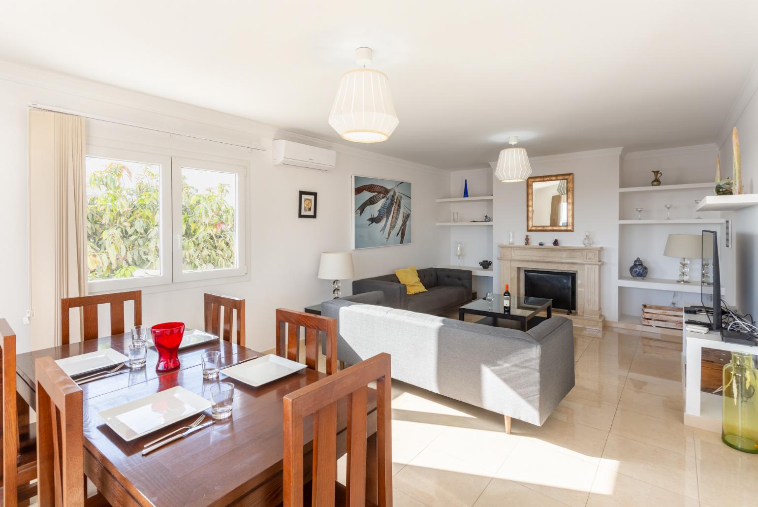
[[(754, 71), (756, 74), (758, 70)], [(746, 87), (747, 88), (747, 87)], [(733, 124), (728, 124), (728, 135), (720, 147), (722, 177), (731, 176), (731, 127), (737, 127), (740, 136), (742, 182), (745, 193), (758, 193), (758, 93), (755, 86), (747, 93), (742, 111)], [(752, 96), (750, 95), (752, 93)], [(739, 103), (739, 101), (738, 101)], [(758, 316), (758, 206), (743, 208), (725, 214), (733, 219), (735, 239), (735, 265), (738, 271), (736, 305), (753, 318)], [(731, 302), (731, 301), (730, 301)]]

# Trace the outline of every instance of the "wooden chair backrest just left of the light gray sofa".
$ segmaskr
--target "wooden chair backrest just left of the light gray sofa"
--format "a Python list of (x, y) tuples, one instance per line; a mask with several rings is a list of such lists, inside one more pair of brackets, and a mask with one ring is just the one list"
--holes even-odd
[[(299, 361), (300, 327), (305, 327), (305, 365), (318, 370), (318, 335), (321, 332), (326, 340), (327, 374), (337, 371), (337, 319), (334, 318), (277, 308), (277, 355)], [(286, 343), (282, 343), (282, 337)]]

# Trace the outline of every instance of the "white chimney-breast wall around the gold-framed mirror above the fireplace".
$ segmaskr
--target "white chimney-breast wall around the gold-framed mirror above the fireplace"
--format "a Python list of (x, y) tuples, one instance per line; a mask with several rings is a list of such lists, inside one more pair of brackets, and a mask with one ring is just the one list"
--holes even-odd
[[(602, 246), (600, 269), (600, 304), (603, 315), (617, 320), (618, 303), (615, 281), (618, 276), (619, 155), (621, 149), (567, 153), (530, 158), (532, 176), (574, 174), (574, 232), (529, 233), (532, 245), (540, 241), (550, 248), (553, 239), (563, 246), (581, 246), (584, 231), (589, 230), (595, 246)], [(523, 244), (526, 230), (526, 183), (500, 183), (493, 179), (493, 257), (497, 246), (508, 243), (509, 230), (515, 243)], [(496, 286), (500, 264), (495, 264)], [(500, 292), (504, 287), (499, 287)]]

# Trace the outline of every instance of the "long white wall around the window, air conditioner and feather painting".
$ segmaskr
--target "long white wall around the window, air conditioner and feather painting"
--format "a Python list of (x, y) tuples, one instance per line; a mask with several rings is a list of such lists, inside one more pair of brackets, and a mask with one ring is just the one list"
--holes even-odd
[[(448, 241), (443, 242), (439, 228), (434, 227), (437, 215), (434, 200), (448, 191), (449, 173), (277, 131), (274, 127), (228, 114), (0, 63), (0, 196), (4, 241), (0, 249), (0, 279), (3, 280), (0, 316), (7, 318), (16, 330), (20, 351), (52, 345), (52, 337), (48, 336), (35, 336), (32, 342), (29, 327), (22, 324), (30, 299), (27, 115), (28, 105), (33, 102), (265, 148), (265, 151), (249, 153), (252, 169), (248, 227), (250, 280), (146, 293), (143, 296), (145, 324), (180, 320), (190, 327), (202, 327), (202, 293), (226, 293), (246, 299), (248, 345), (259, 350), (273, 347), (275, 308), (302, 309), (330, 296), (330, 281), (316, 278), (319, 253), (351, 249), (351, 174), (413, 183), (412, 244), (353, 252), (356, 277), (385, 274), (411, 264), (419, 268), (434, 266), (448, 257)], [(270, 152), (273, 138), (337, 149), (337, 168), (321, 174), (273, 167)], [(391, 139), (388, 142), (392, 142)], [(297, 218), (297, 193), (301, 189), (318, 192), (315, 220)], [(346, 280), (343, 294), (349, 293), (350, 280)]]

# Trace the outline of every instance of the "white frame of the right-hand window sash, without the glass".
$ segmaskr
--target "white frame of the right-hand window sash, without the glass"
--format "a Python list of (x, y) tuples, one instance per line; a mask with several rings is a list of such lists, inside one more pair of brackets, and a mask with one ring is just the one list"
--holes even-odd
[[(208, 280), (211, 278), (238, 277), (247, 273), (245, 243), (245, 189), (246, 167), (234, 164), (225, 164), (217, 161), (200, 160), (197, 158), (173, 157), (171, 159), (173, 193), (173, 220), (174, 220), (174, 282), (186, 282), (192, 280)], [(182, 167), (199, 169), (201, 171), (215, 171), (236, 174), (236, 210), (234, 212), (234, 230), (236, 232), (235, 253), (236, 268), (219, 268), (203, 271), (183, 271), (182, 262)]]

